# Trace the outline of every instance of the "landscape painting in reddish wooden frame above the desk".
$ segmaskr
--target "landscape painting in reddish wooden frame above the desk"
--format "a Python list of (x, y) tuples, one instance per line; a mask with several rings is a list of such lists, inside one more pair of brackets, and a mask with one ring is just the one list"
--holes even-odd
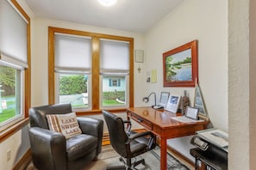
[(163, 53), (164, 87), (195, 87), (197, 63), (197, 40)]

